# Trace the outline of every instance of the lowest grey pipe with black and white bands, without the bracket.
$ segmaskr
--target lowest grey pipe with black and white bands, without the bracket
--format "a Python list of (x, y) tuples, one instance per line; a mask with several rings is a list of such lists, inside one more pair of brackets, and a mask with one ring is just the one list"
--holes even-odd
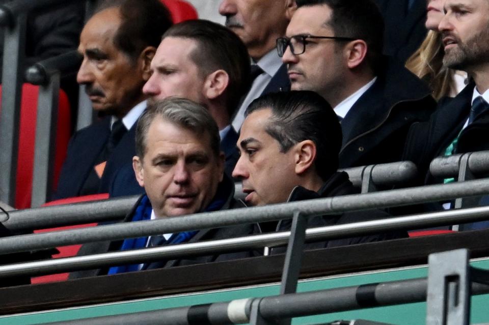
[[(365, 289), (367, 288), (367, 289)], [(366, 284), (334, 289), (285, 294), (260, 298), (259, 312), (265, 319), (276, 320), (331, 312), (362, 309), (367, 306), (358, 300), (359, 291), (371, 293), (373, 306), (393, 306), (426, 300), (426, 278)], [(472, 294), (485, 294), (489, 286), (472, 284)], [(213, 303), (207, 306), (208, 323), (231, 325), (247, 323), (255, 299)], [(49, 323), (49, 325), (112, 325), (112, 324), (188, 324), (189, 310), (193, 306), (168, 308), (121, 315), (93, 317)], [(195, 309), (194, 309), (195, 310)], [(230, 315), (233, 311), (233, 315)], [(233, 317), (234, 315), (241, 317)], [(231, 321), (231, 318), (234, 321)]]

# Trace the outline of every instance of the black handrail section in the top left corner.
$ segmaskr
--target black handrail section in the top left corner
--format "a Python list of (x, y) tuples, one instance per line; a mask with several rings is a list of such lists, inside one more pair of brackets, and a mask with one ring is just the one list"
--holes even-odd
[(13, 25), (15, 17), (30, 11), (48, 10), (59, 5), (68, 5), (80, 0), (15, 0), (0, 5), (0, 25)]

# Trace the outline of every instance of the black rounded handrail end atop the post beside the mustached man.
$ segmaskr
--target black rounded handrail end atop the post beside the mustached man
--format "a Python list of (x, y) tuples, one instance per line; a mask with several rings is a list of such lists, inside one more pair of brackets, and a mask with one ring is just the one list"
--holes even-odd
[(81, 63), (82, 56), (78, 51), (67, 52), (35, 63), (25, 71), (25, 79), (32, 84), (47, 84), (53, 75), (64, 77), (74, 74)]

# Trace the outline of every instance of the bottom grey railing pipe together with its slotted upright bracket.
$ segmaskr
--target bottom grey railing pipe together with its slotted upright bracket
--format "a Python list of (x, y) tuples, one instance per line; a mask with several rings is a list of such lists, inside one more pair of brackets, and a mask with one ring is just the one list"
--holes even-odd
[[(489, 282), (489, 272), (470, 267), (468, 256), (468, 250), (464, 249), (431, 254), (427, 278), (239, 299), (50, 324), (250, 323), (268, 325), (277, 324), (278, 320), (291, 317), (427, 301), (426, 325), (468, 325), (470, 297), (489, 293), (489, 285), (482, 284)], [(453, 266), (454, 264), (456, 266)], [(447, 272), (449, 269), (451, 272)]]

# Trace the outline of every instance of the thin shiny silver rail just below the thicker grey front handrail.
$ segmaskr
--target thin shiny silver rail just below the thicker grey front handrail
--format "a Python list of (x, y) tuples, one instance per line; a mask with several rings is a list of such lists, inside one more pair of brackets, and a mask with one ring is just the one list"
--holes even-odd
[[(188, 217), (181, 218), (186, 219)], [(359, 235), (374, 234), (379, 232), (387, 232), (392, 230), (425, 228), (432, 226), (449, 225), (456, 222), (479, 221), (483, 219), (489, 219), (489, 206), (309, 228), (306, 230), (306, 238), (308, 241), (333, 240), (339, 238), (356, 237)], [(154, 222), (142, 221), (134, 222), (133, 224), (135, 223), (149, 224)], [(157, 233), (163, 232), (151, 232), (151, 234)], [(35, 239), (35, 242), (39, 245), (43, 245), (43, 242), (39, 241), (39, 237), (41, 237), (41, 235), (43, 234), (29, 236), (30, 238)], [(25, 239), (22, 237), (24, 236), (16, 236), (14, 238), (5, 239), (6, 242), (3, 242), (1, 246), (2, 253), (9, 251), (7, 249), (9, 245), (11, 248), (10, 251), (25, 250), (26, 247), (24, 244), (22, 244)], [(286, 244), (289, 237), (290, 231), (283, 231), (218, 241), (169, 245), (87, 256), (76, 256), (27, 263), (0, 265), (0, 278), (9, 277), (12, 275), (34, 276), (56, 272), (75, 271), (80, 269), (94, 269), (107, 265), (141, 263), (157, 259), (169, 259), (181, 256), (204, 255), (207, 253), (215, 252), (228, 252), (241, 249), (262, 248), (264, 246), (273, 247)]]

